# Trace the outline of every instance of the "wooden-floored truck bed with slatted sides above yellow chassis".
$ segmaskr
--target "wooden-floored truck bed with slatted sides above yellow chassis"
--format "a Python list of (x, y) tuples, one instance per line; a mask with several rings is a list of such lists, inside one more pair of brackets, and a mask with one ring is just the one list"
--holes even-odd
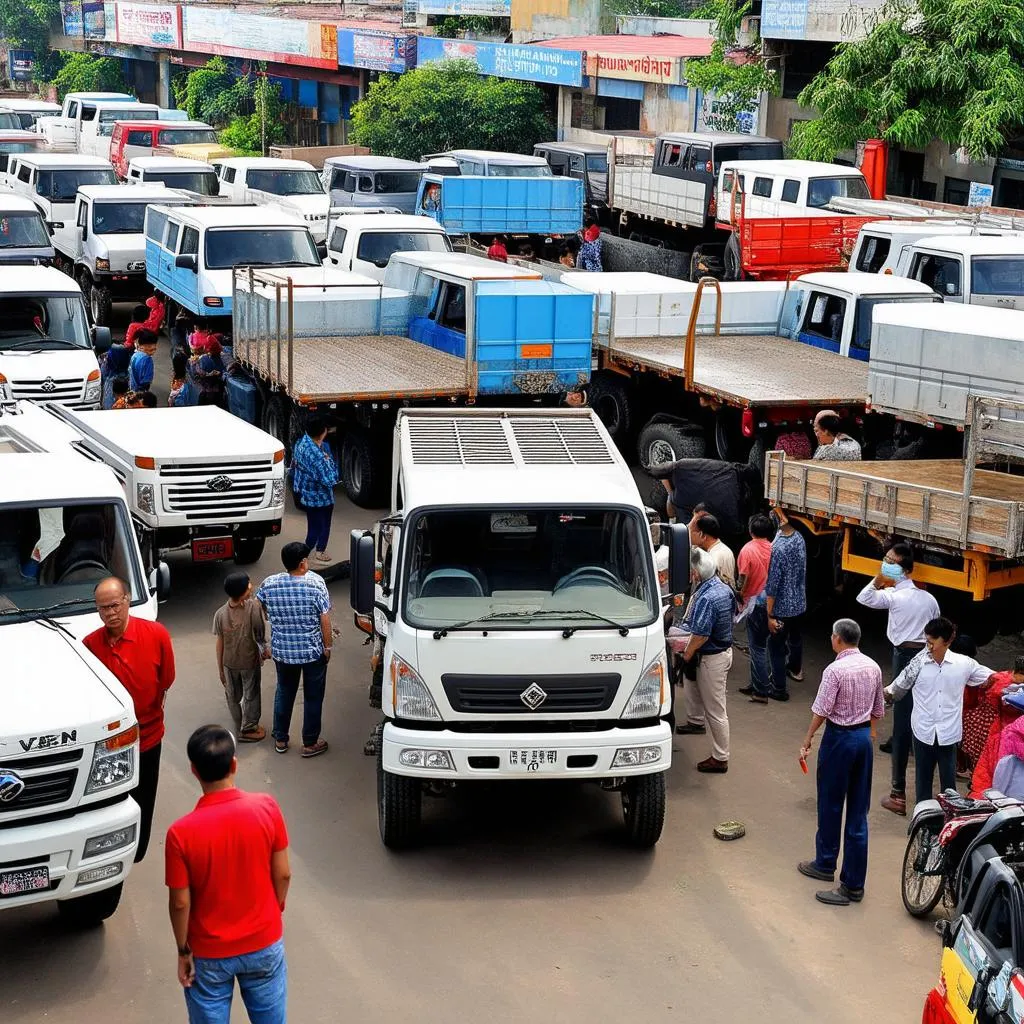
[(794, 512), (957, 549), (1024, 557), (1024, 476), (957, 459), (800, 462), (769, 452), (766, 497)]

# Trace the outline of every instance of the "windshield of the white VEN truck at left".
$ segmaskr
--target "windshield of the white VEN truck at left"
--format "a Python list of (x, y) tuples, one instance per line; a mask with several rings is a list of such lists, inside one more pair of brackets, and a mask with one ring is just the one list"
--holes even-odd
[[(17, 455), (4, 458), (16, 462)], [(13, 467), (11, 467), (13, 468)], [(95, 612), (104, 577), (145, 589), (123, 505), (5, 505), (0, 508), (0, 624)]]

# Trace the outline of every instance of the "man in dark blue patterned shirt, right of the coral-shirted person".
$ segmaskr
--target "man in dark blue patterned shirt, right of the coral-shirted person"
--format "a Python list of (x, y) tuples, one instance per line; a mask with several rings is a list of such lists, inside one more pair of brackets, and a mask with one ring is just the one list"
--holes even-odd
[(781, 509), (774, 509), (778, 532), (771, 545), (765, 611), (768, 616), (768, 667), (772, 700), (788, 700), (788, 674), (797, 682), (804, 678), (804, 638), (801, 620), (807, 610), (807, 546), (804, 538)]

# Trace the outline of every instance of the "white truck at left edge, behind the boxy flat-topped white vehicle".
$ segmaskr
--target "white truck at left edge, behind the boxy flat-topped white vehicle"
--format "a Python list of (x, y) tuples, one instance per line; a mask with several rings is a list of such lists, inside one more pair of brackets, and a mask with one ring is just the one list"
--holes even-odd
[(0, 273), (0, 387), (14, 398), (98, 409), (96, 353), (111, 346), (105, 327), (90, 329), (78, 285), (50, 266)]

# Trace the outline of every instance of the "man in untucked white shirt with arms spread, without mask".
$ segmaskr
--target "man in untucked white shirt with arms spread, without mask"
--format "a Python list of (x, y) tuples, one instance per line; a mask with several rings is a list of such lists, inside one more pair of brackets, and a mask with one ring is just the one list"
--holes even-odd
[(889, 686), (886, 696), (900, 700), (910, 687), (915, 699), (910, 727), (916, 799), (934, 795), (935, 768), (943, 790), (956, 786), (956, 744), (964, 734), (964, 688), (982, 686), (992, 670), (973, 657), (949, 650), (956, 628), (948, 618), (933, 618), (925, 627), (927, 653), (908, 665)]

